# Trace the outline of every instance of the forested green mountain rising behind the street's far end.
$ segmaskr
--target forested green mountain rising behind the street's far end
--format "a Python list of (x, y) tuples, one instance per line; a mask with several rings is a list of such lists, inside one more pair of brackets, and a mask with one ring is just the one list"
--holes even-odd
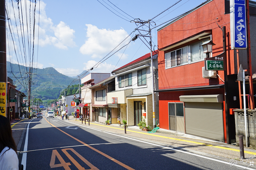
[[(74, 80), (74, 78), (65, 76), (52, 67), (33, 68), (29, 71), (29, 67), (10, 62), (6, 62), (6, 64), (7, 76), (13, 80), (13, 84), (17, 86), (16, 89), (24, 92), (27, 96), (29, 72), (31, 73), (31, 96), (41, 100), (59, 98), (60, 93)], [(78, 84), (78, 81), (74, 84)]]

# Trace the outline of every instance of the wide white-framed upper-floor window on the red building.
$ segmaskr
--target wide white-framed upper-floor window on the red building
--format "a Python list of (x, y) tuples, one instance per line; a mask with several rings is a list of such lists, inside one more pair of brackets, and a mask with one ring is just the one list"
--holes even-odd
[(209, 39), (204, 39), (203, 41), (165, 53), (165, 68), (168, 69), (203, 60), (206, 54), (204, 53), (203, 47), (200, 45), (207, 40)]

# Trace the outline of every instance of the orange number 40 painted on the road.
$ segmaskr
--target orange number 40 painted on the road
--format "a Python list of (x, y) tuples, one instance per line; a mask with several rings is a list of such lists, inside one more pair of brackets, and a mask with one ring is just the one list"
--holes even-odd
[[(84, 157), (82, 157), (79, 153), (77, 153), (74, 149), (72, 148), (67, 148), (67, 149), (62, 149), (61, 151), (65, 153), (65, 155), (68, 157), (68, 159), (71, 160), (71, 162), (80, 170), (83, 170), (84, 167), (82, 167), (68, 152), (67, 150), (72, 151), (73, 153), (76, 154), (76, 156), (78, 156), (78, 158), (80, 158), (82, 161), (84, 161), (85, 164), (87, 164), (88, 166), (90, 166), (91, 169), (95, 169), (97, 170), (98, 168), (96, 168), (95, 166), (93, 166), (90, 162), (88, 162), (88, 160), (86, 160)], [(59, 159), (60, 164), (55, 164), (55, 159), (56, 157)], [(51, 168), (56, 168), (56, 167), (61, 167), (63, 166), (65, 170), (71, 170), (69, 168), (71, 164), (69, 162), (65, 162), (65, 160), (60, 156), (59, 152), (57, 150), (52, 150), (52, 157), (51, 157), (51, 161), (50, 161), (50, 167)], [(85, 170), (85, 169), (84, 169)], [(99, 169), (98, 169), (99, 170)]]

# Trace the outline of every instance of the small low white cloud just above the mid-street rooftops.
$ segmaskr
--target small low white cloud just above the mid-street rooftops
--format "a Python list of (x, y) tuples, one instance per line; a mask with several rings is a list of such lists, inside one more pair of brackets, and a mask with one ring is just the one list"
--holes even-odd
[[(84, 63), (84, 70), (89, 70), (91, 69), (95, 64), (97, 64), (98, 62), (94, 61), (94, 60), (90, 60), (87, 63)], [(93, 68), (93, 70), (89, 70), (91, 73), (110, 73), (111, 71), (113, 71), (114, 69), (114, 65), (112, 64), (108, 64), (108, 63), (100, 63), (97, 67), (97, 65), (95, 66), (96, 68)]]

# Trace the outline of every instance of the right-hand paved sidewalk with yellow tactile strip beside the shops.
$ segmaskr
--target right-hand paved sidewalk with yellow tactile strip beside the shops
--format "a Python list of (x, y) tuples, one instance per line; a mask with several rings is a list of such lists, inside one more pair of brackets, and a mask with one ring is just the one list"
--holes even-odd
[[(75, 123), (78, 125), (82, 125), (85, 127), (89, 127), (89, 123), (86, 122), (86, 125), (81, 121), (75, 121), (74, 118), (70, 118), (69, 122)], [(252, 160), (256, 162), (256, 150), (254, 148), (246, 148), (244, 147), (244, 156), (248, 159), (248, 163), (246, 164), (246, 159), (244, 159), (243, 163), (240, 163), (240, 149), (239, 146), (233, 144), (226, 144), (222, 142), (213, 141), (210, 139), (205, 139), (201, 137), (196, 137), (188, 134), (183, 134), (179, 132), (172, 132), (165, 129), (158, 129), (155, 133), (148, 133), (146, 131), (142, 131), (138, 126), (130, 126), (126, 128), (126, 134), (124, 134), (124, 127), (119, 127), (118, 124), (110, 124), (106, 125), (98, 122), (90, 122), (90, 128), (99, 129), (102, 131), (107, 131), (115, 134), (119, 134), (126, 137), (135, 138), (138, 140), (164, 145), (167, 147), (173, 147), (176, 149), (182, 149), (184, 151), (201, 154), (204, 156), (213, 157), (216, 159), (222, 159), (223, 161), (230, 162), (235, 161), (238, 164), (242, 164), (244, 166), (249, 166)], [(250, 166), (253, 167), (253, 166)]]

